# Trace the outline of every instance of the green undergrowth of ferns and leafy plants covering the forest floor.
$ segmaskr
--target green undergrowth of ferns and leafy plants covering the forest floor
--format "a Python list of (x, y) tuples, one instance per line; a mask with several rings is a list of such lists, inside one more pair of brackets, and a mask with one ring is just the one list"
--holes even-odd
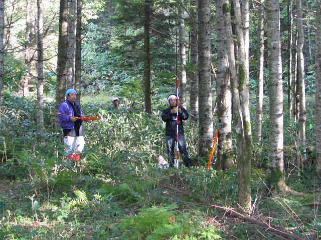
[[(4, 98), (1, 239), (262, 239), (262, 234), (280, 239), (210, 205), (237, 207), (237, 170), (207, 171), (207, 159), (196, 156), (198, 137), (189, 125), (193, 167), (179, 172), (155, 167), (158, 156), (166, 156), (162, 100), (148, 118), (128, 99), (122, 100), (123, 109), (111, 112), (108, 102), (84, 97), (86, 115), (102, 120), (84, 123), (86, 148), (76, 166), (63, 159), (52, 102), (44, 107), (46, 127), (38, 130), (35, 101), (6, 93)], [(264, 182), (265, 150), (254, 148), (251, 214), (301, 237), (317, 237), (320, 182), (313, 165), (286, 168), (286, 183), (304, 196), (271, 196)]]

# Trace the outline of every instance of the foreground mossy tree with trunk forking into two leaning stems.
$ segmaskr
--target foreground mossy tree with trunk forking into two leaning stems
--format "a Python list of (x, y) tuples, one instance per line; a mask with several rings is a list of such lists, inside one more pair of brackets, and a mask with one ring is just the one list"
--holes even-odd
[[(237, 39), (239, 45), (239, 60), (237, 75), (235, 64), (235, 51), (232, 34), (231, 14), (230, 6), (227, 0), (223, 0), (223, 15), (227, 37), (228, 46), (228, 58), (229, 58), (229, 70), (232, 82), (232, 99), (234, 107), (234, 122), (237, 133), (237, 166), (238, 166), (238, 200), (239, 204), (245, 209), (249, 210), (251, 207), (251, 156), (252, 156), (252, 136), (251, 125), (248, 119), (249, 111), (248, 107), (248, 82), (246, 80), (246, 59), (242, 22), (238, 22), (236, 25)], [(235, 17), (241, 19), (240, 4), (234, 2)], [(247, 78), (248, 79), (248, 78)], [(246, 96), (247, 95), (247, 96)], [(247, 105), (247, 107), (246, 107)]]

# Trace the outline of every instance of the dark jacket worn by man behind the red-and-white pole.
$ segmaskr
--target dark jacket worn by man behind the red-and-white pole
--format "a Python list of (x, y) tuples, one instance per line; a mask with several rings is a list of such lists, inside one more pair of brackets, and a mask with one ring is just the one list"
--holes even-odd
[[(179, 113), (179, 135), (184, 134), (184, 127), (183, 127), (183, 120), (187, 120), (189, 118), (189, 113), (187, 110), (179, 106), (179, 108), (182, 109), (182, 113)], [(166, 128), (165, 128), (165, 133), (167, 136), (176, 136), (176, 113), (171, 114), (171, 109), (173, 109), (172, 106), (166, 108), (162, 112), (162, 119), (163, 121), (166, 122)]]

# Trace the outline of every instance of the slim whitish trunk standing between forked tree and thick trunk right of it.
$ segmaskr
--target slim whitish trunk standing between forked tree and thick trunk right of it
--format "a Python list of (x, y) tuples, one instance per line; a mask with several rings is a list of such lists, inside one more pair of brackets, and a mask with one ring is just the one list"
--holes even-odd
[(262, 115), (263, 115), (263, 66), (264, 66), (264, 0), (260, 1), (257, 24), (257, 85), (256, 85), (256, 113), (255, 113), (255, 141), (262, 144)]

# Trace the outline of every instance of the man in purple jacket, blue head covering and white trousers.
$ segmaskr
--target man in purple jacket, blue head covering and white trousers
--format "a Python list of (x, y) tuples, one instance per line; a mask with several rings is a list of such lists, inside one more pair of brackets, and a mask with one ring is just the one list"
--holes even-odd
[(85, 146), (84, 133), (82, 128), (82, 121), (79, 118), (84, 116), (81, 112), (80, 105), (76, 102), (77, 91), (75, 89), (68, 89), (66, 91), (67, 99), (59, 105), (58, 112), (69, 115), (59, 114), (59, 123), (64, 133), (64, 144), (66, 147), (66, 158), (80, 160), (80, 154)]

